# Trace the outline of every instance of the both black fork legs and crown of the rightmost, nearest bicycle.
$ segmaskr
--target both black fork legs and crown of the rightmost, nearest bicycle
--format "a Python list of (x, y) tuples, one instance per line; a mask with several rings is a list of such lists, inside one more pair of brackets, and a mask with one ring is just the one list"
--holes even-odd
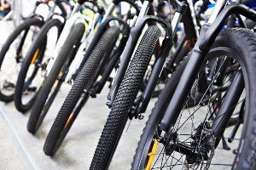
[[(256, 13), (253, 10), (248, 9), (243, 5), (230, 5), (218, 15), (218, 18), (212, 23), (212, 26), (205, 25), (201, 29), (201, 36), (195, 44), (195, 48), (190, 56), (188, 64), (183, 71), (180, 81), (177, 83), (176, 91), (174, 92), (171, 102), (169, 103), (166, 113), (160, 123), (160, 128), (166, 133), (172, 133), (172, 127), (177, 122), (179, 113), (183, 109), (183, 105), (186, 100), (187, 94), (189, 94), (190, 89), (192, 88), (193, 80), (195, 80), (196, 75), (200, 71), (201, 65), (209, 52), (213, 42), (218, 36), (219, 31), (230, 14), (243, 14), (251, 20), (256, 19)], [(242, 90), (244, 88), (243, 77), (241, 71), (236, 73), (236, 77), (230, 86), (230, 90), (224, 98), (223, 105), (221, 105), (220, 114), (221, 117), (219, 121), (215, 122), (212, 126), (214, 130), (214, 135), (221, 137), (224, 133), (225, 123), (230, 119), (234, 110), (229, 110), (236, 105), (238, 99), (241, 96)], [(219, 139), (217, 140), (216, 145), (218, 144)], [(216, 146), (215, 145), (215, 146)]]

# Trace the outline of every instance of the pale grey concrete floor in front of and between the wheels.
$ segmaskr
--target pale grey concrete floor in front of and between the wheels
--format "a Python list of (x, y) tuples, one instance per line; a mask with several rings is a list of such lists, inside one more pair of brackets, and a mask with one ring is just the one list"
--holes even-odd
[[(13, 167), (12, 160), (14, 158), (16, 160), (16, 157), (20, 165), (35, 169), (87, 169), (90, 166), (91, 157), (93, 156), (102, 127), (108, 116), (109, 109), (104, 105), (106, 103), (107, 93), (108, 90), (105, 88), (103, 93), (98, 95), (96, 99), (90, 99), (88, 101), (68, 133), (67, 138), (61, 145), (60, 150), (57, 151), (53, 158), (45, 156), (42, 148), (44, 139), (49, 132), (57, 111), (61, 107), (67, 90), (61, 91), (61, 94), (55, 100), (55, 105), (50, 109), (43, 126), (39, 129), (36, 136), (26, 131), (26, 122), (29, 113), (22, 115), (18, 111), (15, 111), (13, 103), (2, 103), (2, 109), (0, 110), (2, 115), (1, 125), (4, 122), (5, 126), (0, 126), (0, 129), (3, 129), (4, 132), (1, 133), (0, 139), (7, 139), (1, 141), (3, 146), (0, 148), (4, 148), (4, 152), (7, 152), (7, 156), (9, 156), (6, 158), (6, 169), (15, 168)], [(144, 124), (145, 120), (134, 120), (131, 122), (128, 131), (124, 133), (120, 141), (118, 152), (113, 157), (113, 163), (110, 169), (130, 168), (131, 159), (136, 150), (137, 141)], [(6, 133), (9, 135), (6, 136)], [(14, 144), (9, 144), (9, 141)], [(6, 146), (6, 144), (8, 145)], [(14, 154), (9, 153), (8, 147), (14, 150), (14, 157)], [(2, 156), (1, 154), (0, 159)], [(2, 165), (0, 164), (0, 169), (2, 169)], [(24, 168), (21, 167), (21, 169)]]

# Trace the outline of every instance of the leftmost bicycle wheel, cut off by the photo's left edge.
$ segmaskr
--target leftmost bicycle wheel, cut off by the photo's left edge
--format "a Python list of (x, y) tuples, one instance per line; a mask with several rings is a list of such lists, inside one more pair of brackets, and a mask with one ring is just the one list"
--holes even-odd
[(15, 28), (0, 51), (0, 100), (9, 102), (14, 99), (15, 82), (20, 65), (27, 52), (27, 46), (37, 35), (44, 21), (31, 18)]

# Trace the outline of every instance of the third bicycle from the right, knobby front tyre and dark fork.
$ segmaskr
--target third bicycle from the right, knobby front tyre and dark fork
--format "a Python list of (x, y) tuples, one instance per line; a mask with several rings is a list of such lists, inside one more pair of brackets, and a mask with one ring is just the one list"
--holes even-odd
[[(45, 140), (44, 153), (48, 156), (53, 156), (55, 151), (60, 147), (63, 139), (65, 139), (68, 131), (73, 125), (73, 122), (79, 115), (82, 107), (87, 100), (96, 97), (100, 94), (102, 88), (108, 82), (108, 77), (117, 65), (120, 54), (125, 48), (125, 43), (130, 34), (130, 27), (126, 24), (127, 20), (131, 18), (126, 14), (124, 20), (112, 17), (114, 6), (121, 2), (130, 3), (138, 14), (138, 8), (135, 3), (130, 1), (113, 1), (108, 7), (108, 13), (104, 16), (104, 21), (96, 31), (93, 41), (86, 52), (84, 65), (73, 83), (73, 87), (67, 95), (61, 110), (55, 118), (49, 134)], [(108, 16), (108, 17), (107, 17)], [(110, 21), (116, 21), (121, 25), (108, 26)], [(131, 21), (132, 26), (135, 22)], [(122, 36), (119, 41), (118, 37)], [(118, 42), (118, 45), (116, 45)], [(99, 77), (101, 77), (99, 79)]]

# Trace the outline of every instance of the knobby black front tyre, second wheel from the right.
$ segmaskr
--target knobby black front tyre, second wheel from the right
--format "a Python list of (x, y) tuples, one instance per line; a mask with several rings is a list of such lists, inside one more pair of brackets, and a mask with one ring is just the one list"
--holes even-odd
[(157, 26), (149, 26), (134, 57), (131, 59), (131, 64), (125, 72), (125, 77), (113, 101), (108, 120), (91, 161), (90, 169), (108, 169), (106, 167), (108, 167), (112, 159), (120, 135), (128, 120), (128, 111), (131, 110), (137, 97), (159, 37), (159, 28)]

